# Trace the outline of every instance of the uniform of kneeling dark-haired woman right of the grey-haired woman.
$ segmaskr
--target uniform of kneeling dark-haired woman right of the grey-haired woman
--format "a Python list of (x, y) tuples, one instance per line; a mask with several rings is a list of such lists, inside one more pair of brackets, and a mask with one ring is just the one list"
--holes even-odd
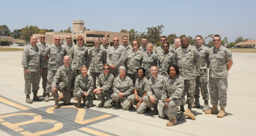
[[(147, 91), (147, 83), (148, 83), (148, 79), (145, 77), (143, 77), (142, 80), (140, 80), (140, 78), (138, 78), (135, 82), (134, 90), (137, 90), (137, 93), (138, 93), (137, 96), (139, 97), (139, 100), (142, 98), (144, 93)], [(137, 105), (137, 103), (138, 103), (135, 100), (134, 94), (131, 94), (130, 96), (128, 96), (127, 99), (133, 105)], [(137, 108), (137, 113), (143, 114), (146, 112), (146, 109), (147, 109), (147, 105), (142, 101), (140, 106)]]

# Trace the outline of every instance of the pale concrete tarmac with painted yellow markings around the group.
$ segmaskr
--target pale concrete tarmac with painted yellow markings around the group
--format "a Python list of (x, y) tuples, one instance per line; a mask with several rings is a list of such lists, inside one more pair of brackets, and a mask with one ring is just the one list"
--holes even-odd
[(255, 53), (233, 53), (224, 118), (205, 114), (201, 96), (201, 108), (192, 109), (196, 120), (186, 118), (172, 127), (165, 125), (167, 118), (150, 116), (150, 111), (137, 114), (135, 106), (129, 111), (97, 107), (98, 98), (91, 108), (76, 108), (77, 101), (71, 99), (71, 105), (60, 102), (61, 107), (54, 109), (53, 97), (44, 102), (41, 83), (43, 101), (28, 104), (21, 59), (22, 52), (0, 52), (0, 135), (255, 135)]

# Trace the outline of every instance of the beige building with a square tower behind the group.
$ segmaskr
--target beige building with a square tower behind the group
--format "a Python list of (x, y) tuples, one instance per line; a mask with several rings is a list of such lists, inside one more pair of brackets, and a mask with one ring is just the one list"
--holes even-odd
[[(45, 42), (48, 44), (53, 44), (53, 40), (55, 36), (60, 36), (61, 41), (65, 41), (65, 37), (67, 34), (71, 34), (72, 36), (72, 42), (76, 42), (77, 36), (82, 36), (84, 39), (85, 44), (94, 44), (93, 40), (94, 37), (99, 37), (100, 40), (105, 36), (108, 38), (108, 45), (114, 45), (112, 42), (112, 39), (114, 36), (118, 36), (119, 38), (119, 44), (122, 43), (122, 37), (127, 36), (129, 40), (129, 33), (120, 33), (120, 32), (110, 32), (110, 31), (97, 31), (97, 30), (84, 30), (84, 21), (75, 20), (73, 21), (73, 32), (72, 33), (61, 33), (61, 32), (46, 32), (45, 35)], [(39, 38), (40, 34), (33, 34), (33, 36), (36, 36)], [(39, 42), (39, 39), (38, 39)]]

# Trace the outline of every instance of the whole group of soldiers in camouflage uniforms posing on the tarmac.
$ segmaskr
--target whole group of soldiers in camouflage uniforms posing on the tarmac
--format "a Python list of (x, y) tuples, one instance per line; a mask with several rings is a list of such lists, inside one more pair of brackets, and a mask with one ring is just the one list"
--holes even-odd
[[(68, 34), (67, 43), (64, 46), (60, 44), (59, 36), (54, 37), (52, 45), (44, 42), (44, 34), (41, 34), (39, 39), (40, 42), (37, 43), (37, 38), (32, 36), (31, 44), (25, 48), (22, 56), (27, 103), (33, 102), (29, 96), (31, 84), (33, 100), (42, 101), (37, 94), (42, 76), (43, 96), (47, 102), (52, 92), (55, 100), (54, 108), (59, 108), (60, 96), (57, 91), (60, 91), (66, 105), (70, 104), (73, 94), (78, 100), (77, 107), (80, 107), (81, 100), (84, 100), (86, 107), (91, 107), (96, 94), (101, 99), (98, 106), (105, 108), (113, 105), (119, 108), (120, 100), (123, 99), (124, 110), (140, 103), (136, 106), (139, 114), (153, 108), (150, 115), (159, 114), (160, 118), (165, 118), (167, 115), (170, 119), (174, 116), (177, 116), (177, 119), (185, 119), (185, 116), (195, 119), (191, 108), (200, 108), (199, 93), (201, 92), (204, 100), (203, 111), (206, 114), (218, 114), (217, 117), (224, 117), (226, 114), (227, 71), (231, 68), (233, 61), (231, 52), (221, 45), (219, 35), (213, 36), (214, 47), (210, 49), (202, 45), (203, 38), (199, 35), (195, 37), (196, 48), (189, 45), (188, 38), (176, 38), (175, 50), (170, 47), (167, 37), (162, 36), (161, 46), (157, 47), (155, 52), (153, 52), (153, 44), (148, 43), (146, 37), (142, 38), (142, 46), (138, 40), (132, 41), (131, 46), (127, 36), (122, 38), (123, 45), (119, 45), (119, 38), (115, 36), (112, 47), (107, 45), (107, 37), (102, 38), (101, 45), (99, 45), (100, 38), (95, 37), (95, 46), (90, 51), (83, 46), (82, 36), (78, 36), (77, 45), (73, 45), (72, 37)], [(175, 83), (173, 80), (168, 80), (170, 78), (168, 68), (173, 64), (179, 69), (179, 78), (175, 78)], [(89, 68), (90, 75), (87, 75)], [(104, 75), (103, 69), (104, 72), (109, 70), (109, 73)], [(141, 78), (142, 73), (144, 76)], [(163, 101), (163, 97), (169, 97), (170, 101), (181, 98), (181, 96), (175, 96), (176, 91), (181, 91), (177, 82), (183, 84), (182, 96), (187, 95), (187, 111), (184, 109), (185, 103), (176, 105), (180, 106), (180, 111), (184, 113), (181, 115), (177, 114), (177, 107), (169, 108), (166, 112), (165, 109), (168, 106), (164, 106), (166, 102)], [(208, 105), (208, 84), (212, 109), (209, 109)], [(167, 87), (169, 90), (166, 86), (169, 86)], [(99, 90), (101, 90), (100, 93), (98, 93)], [(174, 93), (169, 96), (168, 91), (171, 90)], [(218, 100), (221, 107), (219, 113)]]

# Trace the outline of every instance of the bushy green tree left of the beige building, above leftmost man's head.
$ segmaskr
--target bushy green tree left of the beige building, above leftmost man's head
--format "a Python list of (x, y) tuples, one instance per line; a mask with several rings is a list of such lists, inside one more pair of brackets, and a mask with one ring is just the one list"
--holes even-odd
[(40, 29), (37, 26), (27, 25), (20, 33), (20, 40), (25, 40), (26, 42), (29, 42), (31, 36), (33, 34), (39, 33), (39, 31)]

